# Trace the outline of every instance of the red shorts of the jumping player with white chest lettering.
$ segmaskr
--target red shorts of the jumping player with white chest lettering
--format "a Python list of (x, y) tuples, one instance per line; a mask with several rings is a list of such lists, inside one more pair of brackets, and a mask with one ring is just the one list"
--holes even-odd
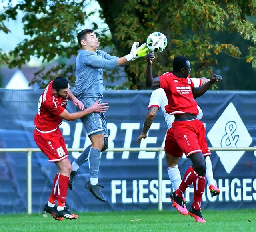
[(202, 121), (174, 121), (172, 128), (179, 147), (187, 157), (197, 152), (202, 152), (204, 156), (211, 155)]

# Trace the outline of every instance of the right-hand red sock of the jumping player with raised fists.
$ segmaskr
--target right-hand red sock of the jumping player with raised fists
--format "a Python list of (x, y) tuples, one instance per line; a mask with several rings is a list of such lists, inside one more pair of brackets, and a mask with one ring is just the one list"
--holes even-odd
[(205, 188), (205, 176), (198, 176), (194, 182), (194, 199), (192, 203), (192, 207), (196, 210), (201, 208), (202, 195), (204, 194)]

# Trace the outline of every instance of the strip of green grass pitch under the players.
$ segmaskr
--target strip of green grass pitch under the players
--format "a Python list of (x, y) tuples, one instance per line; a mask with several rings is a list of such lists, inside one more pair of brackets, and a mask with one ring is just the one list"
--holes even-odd
[[(256, 231), (256, 210), (204, 210), (206, 223), (197, 223), (174, 209), (80, 213), (76, 220), (55, 221), (50, 214), (0, 215), (1, 232), (250, 232)], [(251, 222), (249, 222), (250, 220)]]

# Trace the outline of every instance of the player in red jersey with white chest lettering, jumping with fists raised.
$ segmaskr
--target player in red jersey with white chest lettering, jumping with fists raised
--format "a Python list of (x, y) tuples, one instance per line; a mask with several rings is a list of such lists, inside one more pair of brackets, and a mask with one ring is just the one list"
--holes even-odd
[[(186, 157), (192, 161), (192, 166), (184, 174), (178, 189), (170, 194), (170, 198), (181, 214), (190, 214), (197, 222), (206, 222), (201, 211), (202, 194), (206, 182), (204, 157), (211, 155), (211, 152), (207, 147), (204, 125), (197, 118), (198, 105), (194, 99), (203, 95), (222, 77), (214, 74), (210, 81), (196, 88), (189, 76), (191, 68), (188, 58), (177, 56), (172, 63), (173, 71), (153, 78), (152, 61), (155, 55), (149, 53), (146, 58), (148, 62), (146, 86), (164, 89), (168, 99), (168, 105), (165, 106), (166, 112), (175, 117), (172, 124), (175, 139)], [(187, 210), (183, 194), (191, 184), (194, 186), (194, 198), (191, 208)]]

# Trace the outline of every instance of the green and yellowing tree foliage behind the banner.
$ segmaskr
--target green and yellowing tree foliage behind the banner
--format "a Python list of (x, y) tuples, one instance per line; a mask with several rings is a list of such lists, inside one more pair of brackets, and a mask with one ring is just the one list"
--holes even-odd
[[(3, 0), (2, 0), (3, 2)], [(50, 71), (44, 67), (32, 83), (44, 87), (56, 75), (64, 75), (74, 85), (75, 64), (65, 60), (76, 56), (79, 46), (76, 34), (94, 12), (88, 12), (90, 0), (21, 0), (0, 12), (0, 30), (10, 33), (6, 20), (15, 20), (22, 11), (23, 30), (29, 38), (10, 52), (0, 45), (0, 65), (22, 67), (32, 56), (47, 64), (62, 60)], [(97, 0), (100, 18), (108, 28), (93, 23), (100, 49), (116, 56), (130, 52), (132, 43), (143, 43), (147, 36), (160, 31), (168, 38), (166, 50), (154, 60), (154, 76), (172, 69), (177, 55), (187, 56), (192, 64), (191, 76), (223, 76), (218, 84), (222, 90), (254, 90), (256, 79), (255, 0)], [(110, 32), (110, 33), (109, 33)], [(64, 60), (64, 62), (63, 62)], [(107, 88), (145, 89), (146, 61), (137, 59), (125, 67), (126, 82), (115, 86), (118, 69), (105, 72), (112, 81)]]

